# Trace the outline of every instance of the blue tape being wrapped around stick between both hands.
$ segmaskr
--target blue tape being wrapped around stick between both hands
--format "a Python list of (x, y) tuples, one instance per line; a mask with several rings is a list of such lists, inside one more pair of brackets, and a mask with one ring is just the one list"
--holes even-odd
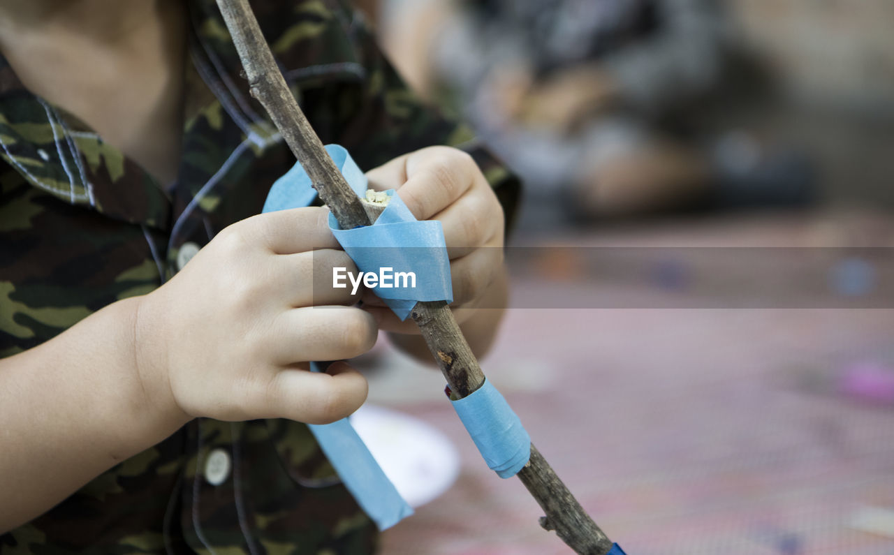
[[(367, 190), (367, 178), (348, 151), (338, 145), (327, 145), (326, 151), (351, 189), (362, 197)], [(415, 275), (412, 287), (409, 281), (395, 280), (389, 282), (392, 287), (379, 285), (372, 288), (394, 314), (406, 320), (420, 300), (453, 300), (450, 258), (447, 256), (441, 223), (418, 222), (399, 195), (394, 194), (393, 190), (386, 192), (391, 200), (373, 225), (342, 230), (330, 214), (329, 228), (361, 272), (378, 275), (383, 268), (391, 268), (392, 275)], [(311, 186), (310, 178), (296, 164), (274, 183), (264, 211), (307, 206), (314, 198), (316, 191)]]

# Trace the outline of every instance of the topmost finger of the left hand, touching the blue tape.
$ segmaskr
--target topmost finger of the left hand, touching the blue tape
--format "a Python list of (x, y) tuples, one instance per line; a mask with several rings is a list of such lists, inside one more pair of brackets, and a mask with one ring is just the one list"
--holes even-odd
[(314, 248), (339, 248), (328, 222), (328, 208), (308, 206), (257, 214), (230, 228), (236, 228), (245, 240), (258, 242), (275, 254), (290, 255)]

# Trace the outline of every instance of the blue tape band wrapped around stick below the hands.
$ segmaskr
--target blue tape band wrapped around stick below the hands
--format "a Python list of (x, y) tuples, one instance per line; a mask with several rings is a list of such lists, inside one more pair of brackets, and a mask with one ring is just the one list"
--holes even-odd
[(500, 391), (485, 380), (477, 391), (451, 404), (487, 467), (501, 478), (518, 474), (531, 458), (531, 437)]

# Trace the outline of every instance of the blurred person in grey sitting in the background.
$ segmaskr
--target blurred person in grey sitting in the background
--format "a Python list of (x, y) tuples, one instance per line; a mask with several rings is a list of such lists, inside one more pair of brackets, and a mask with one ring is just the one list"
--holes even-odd
[(391, 0), (409, 82), (566, 214), (799, 206), (812, 164), (762, 128), (771, 81), (720, 0)]

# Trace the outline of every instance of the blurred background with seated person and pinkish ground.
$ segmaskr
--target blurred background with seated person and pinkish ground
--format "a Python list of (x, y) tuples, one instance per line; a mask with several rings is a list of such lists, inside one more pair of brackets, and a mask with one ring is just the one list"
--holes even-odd
[[(894, 553), (894, 2), (360, 4), (525, 181), (483, 366), (605, 532)], [(569, 552), (439, 374), (384, 344), (363, 364), (418, 505), (385, 554)]]

